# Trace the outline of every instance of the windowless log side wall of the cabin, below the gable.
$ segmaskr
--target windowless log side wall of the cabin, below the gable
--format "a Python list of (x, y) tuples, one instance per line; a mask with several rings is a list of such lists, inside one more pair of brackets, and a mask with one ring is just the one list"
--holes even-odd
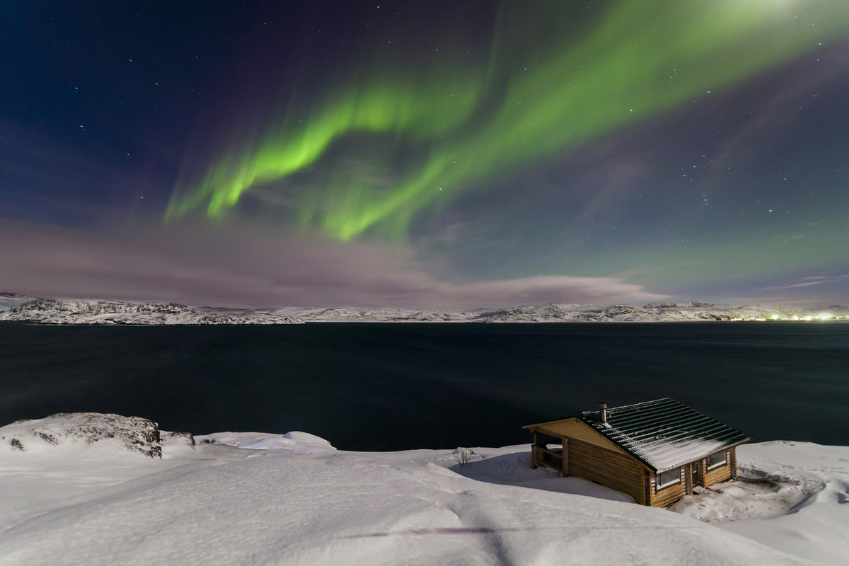
[(635, 458), (576, 438), (567, 438), (567, 446), (569, 475), (627, 493), (634, 501), (645, 504), (645, 467)]

